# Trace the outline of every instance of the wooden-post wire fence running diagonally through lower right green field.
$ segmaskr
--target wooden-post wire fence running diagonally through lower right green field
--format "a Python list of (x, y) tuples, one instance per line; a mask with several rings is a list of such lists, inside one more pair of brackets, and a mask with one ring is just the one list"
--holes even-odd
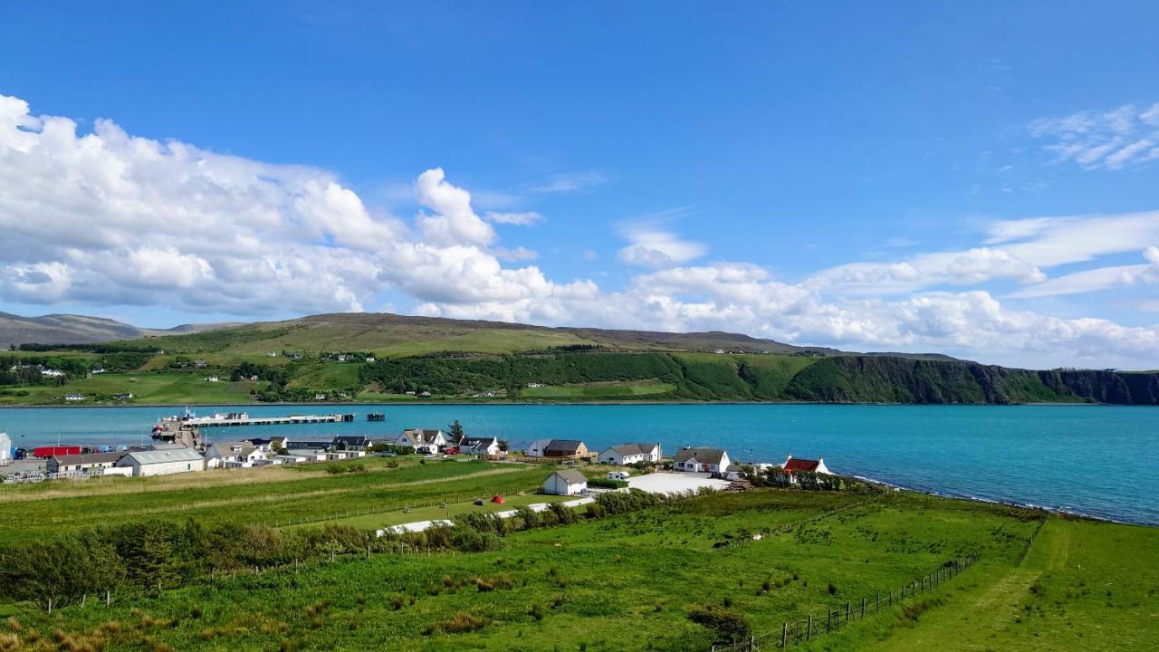
[(978, 555), (971, 553), (960, 559), (946, 562), (936, 571), (917, 578), (910, 584), (902, 585), (896, 591), (879, 591), (873, 596), (862, 596), (860, 600), (846, 602), (836, 609), (828, 609), (822, 617), (809, 616), (785, 622), (780, 630), (752, 635), (749, 640), (714, 645), (712, 652), (759, 652), (760, 650), (783, 650), (792, 645), (800, 645), (812, 640), (816, 637), (830, 632), (840, 631), (841, 628), (899, 606), (906, 599), (936, 591), (941, 585), (960, 575), (964, 570), (972, 566), (978, 560)]

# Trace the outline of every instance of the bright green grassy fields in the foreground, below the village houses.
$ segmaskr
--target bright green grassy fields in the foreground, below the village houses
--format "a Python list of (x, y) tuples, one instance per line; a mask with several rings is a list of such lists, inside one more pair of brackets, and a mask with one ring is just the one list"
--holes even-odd
[[(127, 492), (110, 485), (88, 498), (21, 491), (6, 512), (24, 514), (25, 522), (43, 507), (50, 507), (50, 519), (57, 515), (51, 527), (17, 530), (10, 537), (16, 539), (80, 527), (86, 517), (68, 514), (93, 510), (122, 520), (153, 507), (158, 512), (150, 517), (252, 522), (274, 520), (278, 509), (289, 510), (279, 515), (325, 512), (327, 506), (314, 501), (436, 504), (440, 488), (490, 491), (546, 473), (518, 466), (500, 476), (478, 473), (489, 468), (446, 463), (342, 476), (282, 470), (289, 472), (235, 484), (221, 484), (233, 478), (220, 473), (196, 490), (192, 502), (201, 507), (192, 513), (182, 513), (178, 497), (191, 491), (181, 483), (194, 480), (176, 478), (141, 483), (145, 493), (132, 491), (134, 481), (123, 483)], [(277, 500), (253, 500), (262, 494)], [(107, 625), (119, 630), (104, 636), (108, 650), (708, 650), (713, 636), (687, 618), (691, 609), (730, 604), (758, 633), (779, 631), (781, 622), (823, 615), (977, 551), (978, 565), (910, 602), (923, 607), (884, 610), (804, 649), (1150, 649), (1159, 633), (1152, 617), (1159, 530), (1051, 517), (1018, 565), (1037, 527), (1033, 516), (905, 492), (767, 490), (518, 533), (500, 552), (351, 556), (299, 573), (241, 573), (159, 596), (126, 594), (109, 610), (90, 601), (50, 618), (3, 604), (0, 617), (16, 618), (25, 644), (30, 629), (51, 638), (57, 629), (67, 636), (115, 622)], [(10, 531), (14, 523), (0, 529)], [(738, 548), (714, 548), (745, 531), (785, 524), (794, 528)], [(475, 578), (495, 589), (481, 592)], [(460, 613), (486, 624), (447, 631)]]

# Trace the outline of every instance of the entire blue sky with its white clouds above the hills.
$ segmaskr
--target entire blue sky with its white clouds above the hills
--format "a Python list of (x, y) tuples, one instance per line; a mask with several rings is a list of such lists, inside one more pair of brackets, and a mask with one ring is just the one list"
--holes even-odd
[(0, 310), (1159, 367), (1153, 3), (235, 5), (6, 9)]

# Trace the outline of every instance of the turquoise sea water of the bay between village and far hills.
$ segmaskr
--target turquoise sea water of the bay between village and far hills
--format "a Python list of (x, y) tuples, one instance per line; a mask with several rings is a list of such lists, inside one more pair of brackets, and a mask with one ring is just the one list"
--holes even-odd
[[(198, 407), (201, 414), (227, 406)], [(233, 410), (236, 410), (234, 407)], [(745, 461), (824, 456), (834, 472), (938, 493), (1159, 524), (1159, 408), (901, 405), (407, 405), (245, 406), (252, 415), (353, 412), (353, 423), (210, 428), (214, 439), (398, 433), (446, 428), (513, 444), (580, 439), (593, 450), (658, 441), (715, 445)], [(173, 408), (0, 410), (16, 447), (148, 442)], [(385, 412), (385, 422), (367, 422)]]

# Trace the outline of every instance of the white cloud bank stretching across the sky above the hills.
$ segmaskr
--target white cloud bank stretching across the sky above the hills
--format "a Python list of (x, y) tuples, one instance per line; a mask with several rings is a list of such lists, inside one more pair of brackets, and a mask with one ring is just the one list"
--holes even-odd
[[(1131, 124), (1140, 129), (1149, 115), (1137, 111)], [(1099, 165), (1110, 167), (1111, 155)], [(552, 181), (537, 191), (602, 180)], [(724, 329), (1038, 367), (1159, 367), (1159, 328), (1004, 305), (1116, 283), (1159, 287), (1159, 213), (998, 222), (976, 247), (851, 262), (796, 282), (742, 261), (695, 263), (704, 244), (637, 220), (618, 227), (627, 241), (618, 258), (642, 269), (602, 288), (549, 278), (526, 265), (535, 252), (501, 242), (495, 225), (541, 223), (539, 213), (480, 215), (439, 168), (422, 172), (413, 190), (421, 210), (403, 219), (367, 208), (327, 171), (134, 137), (107, 119), (85, 133), (0, 96), (0, 298), (258, 317), (358, 311), (392, 291), (409, 299), (408, 312), (430, 316)], [(1048, 277), (1060, 265), (1131, 252), (1137, 263)], [(976, 288), (986, 282), (1019, 290), (1000, 300)]]

